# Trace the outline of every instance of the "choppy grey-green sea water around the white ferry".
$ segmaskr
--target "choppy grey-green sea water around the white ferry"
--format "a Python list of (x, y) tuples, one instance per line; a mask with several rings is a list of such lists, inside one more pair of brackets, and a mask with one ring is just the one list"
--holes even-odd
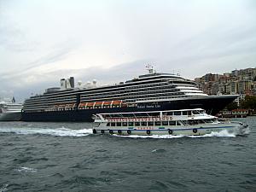
[(3, 191), (256, 191), (245, 135), (93, 135), (90, 123), (0, 122)]

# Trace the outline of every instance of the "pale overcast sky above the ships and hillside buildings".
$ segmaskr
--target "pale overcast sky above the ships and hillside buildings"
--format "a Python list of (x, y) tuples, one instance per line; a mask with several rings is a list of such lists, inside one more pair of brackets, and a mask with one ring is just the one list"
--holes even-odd
[(0, 0), (0, 97), (18, 101), (75, 77), (195, 79), (256, 67), (254, 0)]

